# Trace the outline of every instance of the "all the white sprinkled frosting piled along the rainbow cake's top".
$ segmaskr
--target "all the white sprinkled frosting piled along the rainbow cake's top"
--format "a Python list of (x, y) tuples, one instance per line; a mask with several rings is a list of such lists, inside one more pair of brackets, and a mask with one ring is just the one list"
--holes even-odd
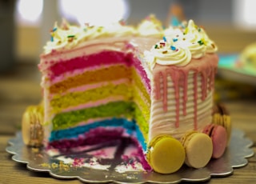
[(152, 14), (142, 20), (137, 27), (128, 26), (124, 22), (116, 22), (104, 27), (88, 24), (73, 26), (63, 20), (60, 26), (54, 24), (50, 36), (50, 41), (44, 47), (44, 54), (70, 50), (83, 42), (98, 38), (162, 38), (152, 46), (151, 50), (146, 50), (144, 53), (150, 70), (153, 70), (156, 63), (186, 66), (191, 58), (202, 58), (205, 54), (212, 54), (218, 50), (206, 31), (196, 26), (193, 20), (163, 29), (162, 23)]

